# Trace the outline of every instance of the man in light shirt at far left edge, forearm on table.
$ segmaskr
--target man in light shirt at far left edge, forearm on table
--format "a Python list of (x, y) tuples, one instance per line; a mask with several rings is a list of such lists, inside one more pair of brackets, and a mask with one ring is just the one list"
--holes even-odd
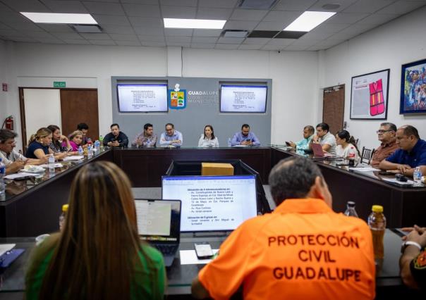
[(18, 153), (13, 149), (16, 146), (15, 137), (18, 137), (18, 135), (11, 130), (0, 130), (0, 158), (1, 162), (6, 165), (6, 175), (18, 172), (24, 167), (25, 163), (40, 165), (47, 162), (47, 159), (26, 158)]

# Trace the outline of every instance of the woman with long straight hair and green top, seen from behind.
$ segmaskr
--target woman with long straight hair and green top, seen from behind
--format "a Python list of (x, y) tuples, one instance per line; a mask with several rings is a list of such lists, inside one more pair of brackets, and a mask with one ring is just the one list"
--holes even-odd
[(130, 181), (114, 163), (85, 165), (71, 185), (63, 232), (36, 246), (25, 298), (163, 299), (162, 254), (140, 240)]

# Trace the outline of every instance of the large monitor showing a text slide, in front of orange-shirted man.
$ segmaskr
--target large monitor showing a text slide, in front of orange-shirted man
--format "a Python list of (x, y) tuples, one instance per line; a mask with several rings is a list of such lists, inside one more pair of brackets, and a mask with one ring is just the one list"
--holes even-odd
[(257, 215), (255, 175), (163, 176), (162, 199), (180, 199), (181, 232), (231, 231)]

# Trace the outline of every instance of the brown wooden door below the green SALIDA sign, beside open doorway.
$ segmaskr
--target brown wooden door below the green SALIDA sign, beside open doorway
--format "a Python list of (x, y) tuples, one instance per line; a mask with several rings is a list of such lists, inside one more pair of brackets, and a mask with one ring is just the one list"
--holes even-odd
[(86, 123), (87, 137), (98, 139), (97, 89), (61, 89), (61, 116), (63, 135), (77, 130), (78, 123)]

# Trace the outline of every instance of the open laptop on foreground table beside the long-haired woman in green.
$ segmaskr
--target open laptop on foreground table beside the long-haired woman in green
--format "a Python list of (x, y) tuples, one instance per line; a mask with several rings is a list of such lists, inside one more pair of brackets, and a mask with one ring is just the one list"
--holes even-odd
[(181, 201), (135, 199), (140, 238), (157, 248), (171, 266), (181, 235)]

